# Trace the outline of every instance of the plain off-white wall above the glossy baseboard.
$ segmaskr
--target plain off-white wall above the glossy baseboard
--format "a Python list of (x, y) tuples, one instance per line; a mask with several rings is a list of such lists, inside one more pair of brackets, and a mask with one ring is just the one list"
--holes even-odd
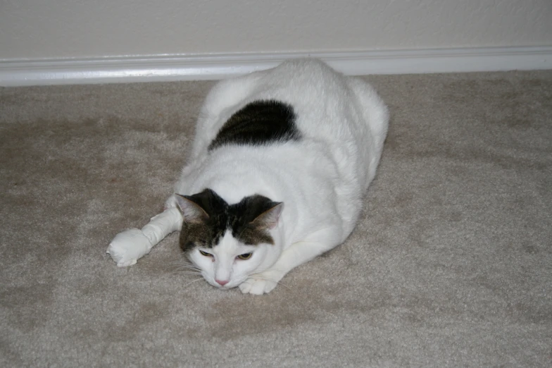
[(0, 0), (0, 59), (552, 45), (552, 0)]

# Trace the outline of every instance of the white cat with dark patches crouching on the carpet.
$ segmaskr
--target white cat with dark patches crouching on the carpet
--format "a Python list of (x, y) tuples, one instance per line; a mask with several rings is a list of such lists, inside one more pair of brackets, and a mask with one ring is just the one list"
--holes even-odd
[(353, 231), (387, 124), (370, 85), (321, 61), (223, 80), (206, 98), (167, 210), (117, 235), (108, 252), (134, 264), (181, 228), (180, 247), (208, 283), (269, 293)]

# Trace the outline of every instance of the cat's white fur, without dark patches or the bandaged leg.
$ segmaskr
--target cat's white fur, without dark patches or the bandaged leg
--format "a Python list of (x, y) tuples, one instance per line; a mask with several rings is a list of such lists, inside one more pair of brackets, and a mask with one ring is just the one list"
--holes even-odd
[[(249, 102), (290, 104), (299, 142), (268, 146), (208, 146), (232, 114)], [(303, 59), (219, 82), (208, 94), (196, 126), (189, 164), (175, 193), (205, 188), (228, 204), (258, 194), (284, 209), (270, 230), (274, 245), (244, 245), (227, 232), (213, 254), (189, 254), (213, 286), (269, 293), (291, 269), (341, 244), (353, 231), (362, 197), (375, 176), (387, 135), (387, 108), (375, 90), (321, 61)], [(174, 195), (165, 207), (177, 207)], [(251, 259), (239, 254), (253, 252)], [(228, 281), (220, 286), (215, 280)]]

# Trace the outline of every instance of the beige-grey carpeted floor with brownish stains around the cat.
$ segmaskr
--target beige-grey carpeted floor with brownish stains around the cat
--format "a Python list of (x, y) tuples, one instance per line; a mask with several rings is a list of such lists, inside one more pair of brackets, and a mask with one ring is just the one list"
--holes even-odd
[(157, 214), (213, 82), (0, 89), (0, 366), (549, 367), (552, 70), (368, 78), (391, 111), (349, 240), (269, 295), (179, 271)]

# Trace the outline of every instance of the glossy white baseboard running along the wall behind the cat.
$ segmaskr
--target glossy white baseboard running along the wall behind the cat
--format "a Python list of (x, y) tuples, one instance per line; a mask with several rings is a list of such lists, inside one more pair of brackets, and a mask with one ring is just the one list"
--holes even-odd
[(0, 85), (64, 85), (227, 78), (314, 57), (348, 75), (552, 69), (552, 46), (484, 47), (0, 61)]

